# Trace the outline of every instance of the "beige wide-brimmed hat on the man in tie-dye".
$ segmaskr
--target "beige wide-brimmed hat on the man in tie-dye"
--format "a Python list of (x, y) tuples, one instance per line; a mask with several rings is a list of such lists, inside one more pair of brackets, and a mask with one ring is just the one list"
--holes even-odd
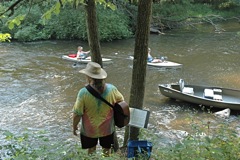
[(101, 66), (96, 62), (88, 62), (86, 68), (80, 70), (79, 72), (94, 79), (107, 78), (106, 71), (104, 71), (104, 69), (102, 69)]

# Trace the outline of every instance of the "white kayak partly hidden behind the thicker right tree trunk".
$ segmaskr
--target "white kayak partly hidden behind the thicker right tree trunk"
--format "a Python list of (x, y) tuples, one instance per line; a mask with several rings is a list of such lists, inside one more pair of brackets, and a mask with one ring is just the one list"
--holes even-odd
[[(134, 57), (130, 56), (130, 59), (133, 60)], [(167, 60), (164, 60), (163, 62), (157, 62), (157, 63), (147, 62), (147, 65), (152, 67), (162, 67), (162, 68), (181, 68), (182, 67), (182, 64), (180, 63), (171, 62)]]

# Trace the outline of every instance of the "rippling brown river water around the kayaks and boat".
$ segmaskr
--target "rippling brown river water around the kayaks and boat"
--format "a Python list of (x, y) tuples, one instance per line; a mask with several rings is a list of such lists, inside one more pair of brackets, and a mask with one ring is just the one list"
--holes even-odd
[[(169, 144), (181, 133), (191, 132), (192, 119), (212, 126), (226, 121), (216, 118), (200, 106), (169, 100), (158, 90), (160, 83), (178, 82), (214, 85), (240, 89), (240, 25), (222, 25), (225, 31), (175, 30), (165, 35), (150, 35), (152, 55), (167, 56), (183, 64), (182, 69), (147, 68), (144, 109), (151, 111), (148, 129), (162, 145)], [(45, 130), (56, 141), (78, 141), (72, 135), (71, 110), (85, 77), (78, 73), (85, 65), (61, 59), (75, 53), (77, 46), (88, 50), (81, 41), (40, 41), (0, 44), (0, 127), (1, 132), (21, 133)], [(113, 63), (104, 64), (107, 82), (113, 83), (129, 100), (134, 39), (101, 43), (103, 57)], [(197, 112), (196, 112), (197, 111)], [(237, 114), (227, 120), (239, 127)], [(191, 118), (189, 118), (191, 117)], [(238, 128), (239, 129), (239, 128)], [(119, 137), (123, 130), (119, 130)], [(1, 140), (4, 137), (1, 134)]]

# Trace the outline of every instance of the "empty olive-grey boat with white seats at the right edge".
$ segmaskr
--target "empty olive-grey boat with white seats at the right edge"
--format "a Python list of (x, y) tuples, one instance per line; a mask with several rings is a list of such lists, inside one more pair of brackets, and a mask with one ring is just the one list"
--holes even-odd
[(182, 79), (178, 84), (159, 84), (162, 95), (190, 103), (240, 110), (240, 90), (214, 86), (185, 85)]

